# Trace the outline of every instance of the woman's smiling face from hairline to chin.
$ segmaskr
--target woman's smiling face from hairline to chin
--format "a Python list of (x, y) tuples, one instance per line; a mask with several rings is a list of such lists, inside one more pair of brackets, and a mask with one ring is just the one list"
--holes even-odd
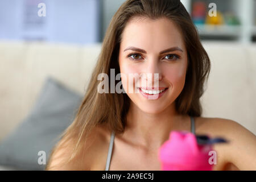
[(121, 77), (123, 89), (139, 109), (160, 113), (174, 106), (185, 84), (187, 51), (179, 29), (170, 19), (129, 20), (118, 58), (121, 75), (125, 75)]

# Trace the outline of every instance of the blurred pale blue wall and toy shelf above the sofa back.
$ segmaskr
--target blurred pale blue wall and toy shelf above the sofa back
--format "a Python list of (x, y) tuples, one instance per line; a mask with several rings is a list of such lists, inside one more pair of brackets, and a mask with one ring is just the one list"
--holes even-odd
[[(109, 22), (125, 0), (10, 0), (0, 2), (0, 38), (46, 42), (102, 42)], [(199, 29), (202, 40), (255, 42), (255, 0), (181, 1)], [(45, 3), (46, 16), (38, 16)], [(217, 16), (210, 17), (210, 3)], [(74, 28), (75, 27), (75, 28)]]

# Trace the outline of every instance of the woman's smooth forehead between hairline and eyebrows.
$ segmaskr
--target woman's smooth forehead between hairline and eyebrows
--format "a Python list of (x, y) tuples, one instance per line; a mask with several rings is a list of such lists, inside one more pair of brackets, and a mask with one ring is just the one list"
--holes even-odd
[(162, 50), (177, 46), (185, 49), (179, 28), (167, 18), (133, 18), (122, 33), (121, 49), (127, 46)]

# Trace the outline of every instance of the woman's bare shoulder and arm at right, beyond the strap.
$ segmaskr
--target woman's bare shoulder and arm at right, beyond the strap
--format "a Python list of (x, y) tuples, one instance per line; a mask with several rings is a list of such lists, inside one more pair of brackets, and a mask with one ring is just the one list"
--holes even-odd
[(217, 170), (256, 169), (256, 137), (251, 131), (231, 119), (198, 117), (195, 121), (197, 134), (228, 140), (228, 143), (214, 145), (219, 161)]

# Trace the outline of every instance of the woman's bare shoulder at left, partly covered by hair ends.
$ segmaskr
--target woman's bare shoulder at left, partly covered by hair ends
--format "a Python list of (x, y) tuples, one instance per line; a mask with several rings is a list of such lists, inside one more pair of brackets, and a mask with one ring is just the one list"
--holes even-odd
[(104, 152), (106, 153), (106, 150), (108, 150), (106, 144), (110, 137), (108, 138), (107, 134), (108, 131), (103, 126), (94, 127), (86, 142), (81, 146), (81, 152), (77, 153), (72, 160), (69, 160), (69, 158), (73, 154), (73, 148), (76, 146), (77, 140), (69, 139), (65, 140), (65, 143), (60, 140), (52, 152), (46, 170), (93, 170), (96, 166), (98, 167), (96, 164), (104, 159)]

